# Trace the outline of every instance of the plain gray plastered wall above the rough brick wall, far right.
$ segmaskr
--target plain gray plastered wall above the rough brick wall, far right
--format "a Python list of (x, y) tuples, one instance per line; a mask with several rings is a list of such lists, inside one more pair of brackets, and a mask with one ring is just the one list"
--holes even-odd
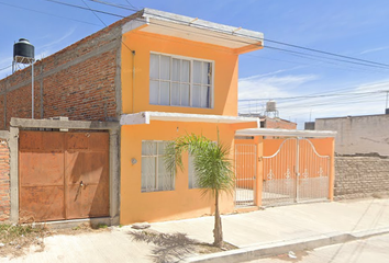
[(316, 130), (336, 130), (335, 152), (389, 156), (389, 114), (316, 118)]

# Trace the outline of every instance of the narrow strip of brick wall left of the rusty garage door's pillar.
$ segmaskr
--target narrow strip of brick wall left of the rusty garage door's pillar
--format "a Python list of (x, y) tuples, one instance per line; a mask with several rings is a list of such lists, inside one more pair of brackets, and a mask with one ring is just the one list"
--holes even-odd
[(10, 151), (7, 140), (0, 139), (0, 221), (10, 216)]

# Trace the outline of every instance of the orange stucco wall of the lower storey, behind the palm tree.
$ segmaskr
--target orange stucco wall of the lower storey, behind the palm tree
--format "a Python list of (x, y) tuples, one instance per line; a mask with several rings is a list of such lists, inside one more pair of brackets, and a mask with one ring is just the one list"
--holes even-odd
[[(240, 128), (253, 127), (242, 124)], [(121, 127), (121, 224), (136, 221), (163, 221), (191, 218), (213, 213), (214, 199), (201, 197), (200, 190), (188, 187), (188, 170), (176, 174), (175, 191), (141, 192), (142, 140), (174, 140), (185, 134), (202, 134), (211, 140), (220, 140), (231, 147), (233, 158), (236, 125), (209, 123), (176, 123), (152, 121), (151, 124), (125, 125)], [(137, 160), (136, 164), (131, 159)], [(184, 163), (188, 163), (187, 155)], [(221, 198), (221, 213), (234, 210), (234, 198), (224, 194)]]

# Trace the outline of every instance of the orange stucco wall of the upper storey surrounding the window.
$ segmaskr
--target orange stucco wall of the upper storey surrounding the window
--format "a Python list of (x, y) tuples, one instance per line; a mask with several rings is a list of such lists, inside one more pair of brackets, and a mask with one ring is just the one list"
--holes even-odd
[[(135, 55), (131, 50), (135, 52)], [(213, 108), (162, 106), (149, 104), (149, 54), (160, 53), (214, 62)], [(233, 49), (181, 38), (131, 31), (123, 35), (122, 111), (124, 114), (143, 111), (237, 115), (237, 64)], [(133, 78), (133, 69), (134, 77)]]

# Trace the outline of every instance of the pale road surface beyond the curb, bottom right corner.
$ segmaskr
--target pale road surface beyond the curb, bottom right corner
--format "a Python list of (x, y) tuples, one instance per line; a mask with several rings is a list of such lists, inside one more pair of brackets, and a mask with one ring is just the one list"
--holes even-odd
[(288, 254), (247, 261), (246, 263), (388, 263), (389, 233), (364, 240), (318, 248), (311, 251), (293, 251), (297, 259)]

